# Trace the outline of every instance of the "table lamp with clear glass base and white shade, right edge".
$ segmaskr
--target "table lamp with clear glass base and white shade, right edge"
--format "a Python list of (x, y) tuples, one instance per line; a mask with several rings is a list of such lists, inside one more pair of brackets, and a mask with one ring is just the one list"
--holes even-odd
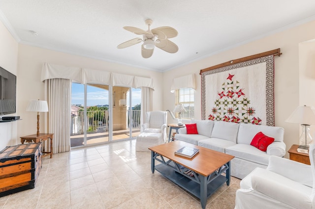
[(298, 106), (285, 122), (301, 124), (302, 134), (300, 136), (299, 148), (308, 150), (312, 141), (310, 127), (311, 124), (315, 124), (314, 107), (306, 105)]

